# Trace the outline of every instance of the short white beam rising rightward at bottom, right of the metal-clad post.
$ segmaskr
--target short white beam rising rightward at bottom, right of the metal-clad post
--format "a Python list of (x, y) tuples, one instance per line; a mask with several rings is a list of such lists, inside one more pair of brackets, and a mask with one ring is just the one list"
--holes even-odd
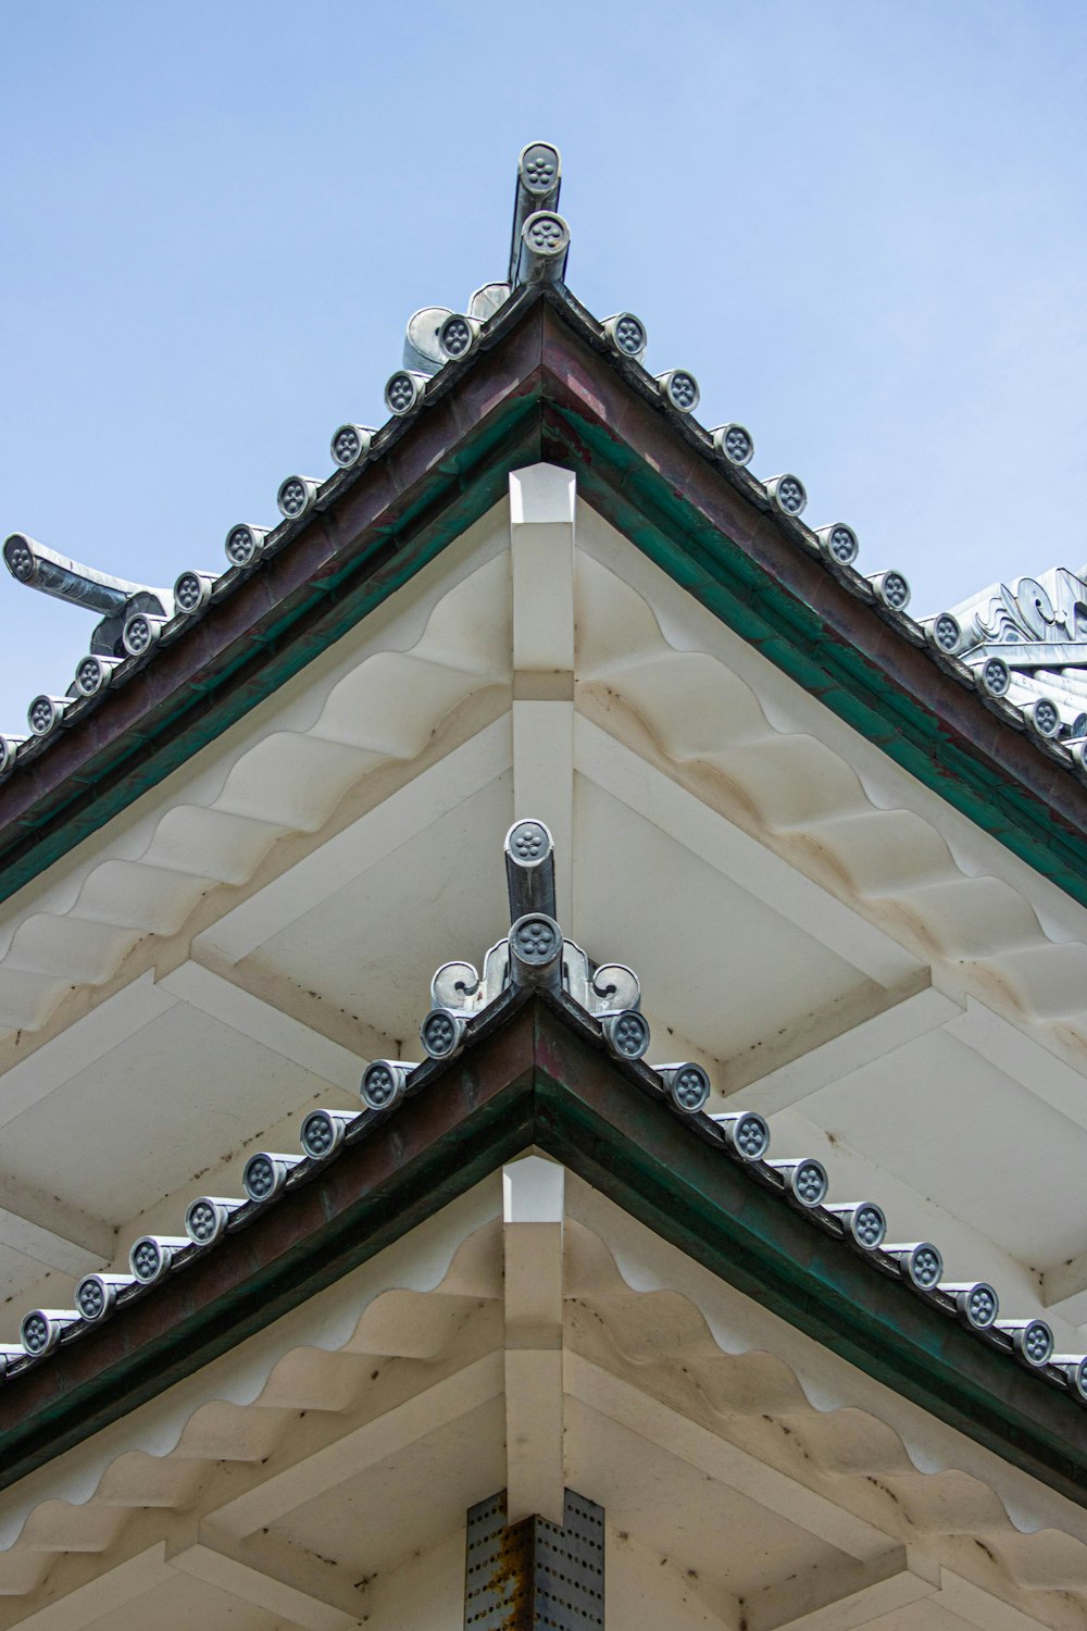
[(932, 1597), (939, 1585), (939, 1566), (913, 1548), (891, 1546), (870, 1562), (838, 1558), (795, 1571), (745, 1598), (743, 1623), (748, 1631), (857, 1631)]

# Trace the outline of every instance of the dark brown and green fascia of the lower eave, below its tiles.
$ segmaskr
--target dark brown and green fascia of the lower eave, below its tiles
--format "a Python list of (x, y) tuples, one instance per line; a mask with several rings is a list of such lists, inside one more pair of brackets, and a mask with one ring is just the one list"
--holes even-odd
[(567, 1000), (500, 1001), (456, 1060), (248, 1227), (0, 1388), (0, 1486), (406, 1235), (531, 1147), (1007, 1461), (1087, 1505), (1087, 1412), (759, 1184)]

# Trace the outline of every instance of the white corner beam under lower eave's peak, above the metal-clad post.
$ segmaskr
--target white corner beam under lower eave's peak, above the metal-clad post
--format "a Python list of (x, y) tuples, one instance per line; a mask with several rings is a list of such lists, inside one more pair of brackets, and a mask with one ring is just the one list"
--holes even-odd
[(566, 1171), (538, 1155), (502, 1169), (507, 1523), (564, 1522), (562, 1217)]

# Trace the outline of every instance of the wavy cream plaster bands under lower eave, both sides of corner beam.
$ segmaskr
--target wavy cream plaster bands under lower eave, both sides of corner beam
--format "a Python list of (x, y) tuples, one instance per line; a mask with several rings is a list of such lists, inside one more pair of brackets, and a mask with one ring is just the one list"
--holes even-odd
[[(504, 1393), (508, 1409), (495, 1187), (481, 1184), (368, 1269), (0, 1497), (5, 1618), (62, 1554), (78, 1554), (83, 1574), (95, 1569), (88, 1554), (111, 1569), (163, 1535), (168, 1549), (171, 1535), (184, 1545), (196, 1525), (244, 1545), (445, 1421)], [(1066, 1624), (1069, 1597), (1087, 1615), (1085, 1512), (799, 1336), (569, 1174), (566, 1187), (567, 1399), (626, 1427), (634, 1409), (634, 1430), (667, 1417), (668, 1453), (860, 1561), (909, 1541), (1041, 1623)], [(512, 1215), (507, 1205), (507, 1254)], [(1048, 1602), (1051, 1592), (1063, 1600)]]

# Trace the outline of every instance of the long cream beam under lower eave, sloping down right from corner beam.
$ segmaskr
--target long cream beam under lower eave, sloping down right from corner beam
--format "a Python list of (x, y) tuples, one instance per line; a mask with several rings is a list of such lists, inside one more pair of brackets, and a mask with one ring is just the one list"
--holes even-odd
[(888, 1536), (874, 1523), (797, 1483), (787, 1473), (768, 1466), (758, 1456), (711, 1432), (701, 1422), (689, 1421), (629, 1381), (613, 1377), (580, 1354), (566, 1355), (566, 1391), (619, 1427), (645, 1439), (647, 1443), (728, 1484), (730, 1489), (738, 1489), (750, 1501), (860, 1562), (870, 1562), (887, 1551)]

